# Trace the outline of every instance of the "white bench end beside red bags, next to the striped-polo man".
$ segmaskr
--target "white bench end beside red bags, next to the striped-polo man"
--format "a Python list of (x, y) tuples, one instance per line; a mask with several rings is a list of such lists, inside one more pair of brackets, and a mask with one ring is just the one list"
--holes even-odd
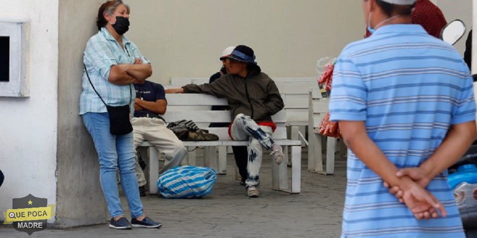
[[(318, 134), (319, 124), (328, 112), (329, 98), (322, 98), (319, 89), (310, 89), (310, 110), (308, 127), (308, 171), (320, 174), (334, 174), (336, 138)], [(326, 170), (323, 170), (322, 139), (326, 138)], [(340, 149), (343, 153), (344, 148)]]

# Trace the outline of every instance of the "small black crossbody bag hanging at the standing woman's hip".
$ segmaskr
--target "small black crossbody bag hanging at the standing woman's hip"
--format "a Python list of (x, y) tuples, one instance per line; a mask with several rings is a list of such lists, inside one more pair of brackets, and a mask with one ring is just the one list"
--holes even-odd
[(98, 97), (101, 99), (101, 101), (104, 103), (106, 106), (106, 109), (108, 110), (108, 115), (109, 115), (109, 132), (112, 135), (125, 135), (128, 133), (131, 133), (133, 131), (133, 125), (131, 124), (131, 119), (130, 119), (130, 105), (131, 101), (133, 100), (133, 91), (131, 89), (131, 84), (129, 85), (129, 93), (130, 93), (130, 99), (129, 99), (129, 104), (123, 105), (123, 106), (109, 106), (107, 105), (103, 98), (99, 95), (98, 91), (93, 86), (93, 83), (91, 82), (91, 79), (89, 78), (88, 75), (88, 70), (86, 70), (86, 65), (84, 65), (84, 70), (86, 72), (86, 76), (88, 76), (89, 83), (91, 84), (91, 87), (93, 87), (94, 92), (98, 95)]

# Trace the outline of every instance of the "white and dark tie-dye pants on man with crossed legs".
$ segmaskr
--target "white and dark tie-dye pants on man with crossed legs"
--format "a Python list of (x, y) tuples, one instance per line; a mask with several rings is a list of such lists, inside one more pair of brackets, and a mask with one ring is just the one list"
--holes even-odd
[(247, 180), (245, 184), (257, 186), (260, 182), (260, 167), (262, 166), (262, 146), (270, 150), (273, 145), (272, 127), (258, 125), (253, 119), (244, 114), (235, 117), (230, 128), (234, 140), (248, 140)]

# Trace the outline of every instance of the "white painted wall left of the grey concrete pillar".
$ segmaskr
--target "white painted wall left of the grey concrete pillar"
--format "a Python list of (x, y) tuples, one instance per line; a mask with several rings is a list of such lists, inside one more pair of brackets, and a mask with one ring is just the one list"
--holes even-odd
[(31, 43), (30, 97), (0, 97), (0, 212), (6, 212), (13, 198), (28, 194), (56, 203), (58, 0), (0, 0), (0, 6), (0, 21), (30, 21)]

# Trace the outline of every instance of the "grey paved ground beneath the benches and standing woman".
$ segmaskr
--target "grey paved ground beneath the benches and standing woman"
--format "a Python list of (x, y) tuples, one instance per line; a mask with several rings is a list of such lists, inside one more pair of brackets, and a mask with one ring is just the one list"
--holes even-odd
[[(197, 154), (200, 154), (197, 153)], [(143, 198), (148, 216), (162, 223), (160, 230), (136, 228), (117, 231), (106, 224), (67, 230), (47, 229), (31, 237), (115, 238), (336, 238), (341, 230), (345, 190), (345, 158), (336, 157), (335, 175), (307, 171), (307, 152), (302, 155), (302, 193), (271, 189), (271, 159), (264, 156), (260, 198), (248, 198), (234, 179), (233, 155), (228, 155), (227, 175), (218, 175), (211, 195), (203, 199), (167, 200)], [(200, 163), (200, 158), (198, 158)], [(122, 197), (123, 208), (127, 204)], [(129, 211), (127, 218), (129, 219)], [(12, 227), (0, 226), (0, 238), (24, 238)]]

